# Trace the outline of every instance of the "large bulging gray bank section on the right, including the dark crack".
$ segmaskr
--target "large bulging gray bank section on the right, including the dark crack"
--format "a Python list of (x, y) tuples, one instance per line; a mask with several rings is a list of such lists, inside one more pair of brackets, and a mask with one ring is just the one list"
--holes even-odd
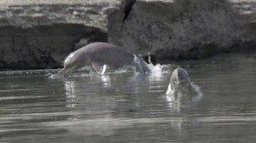
[(160, 61), (256, 46), (255, 0), (126, 0), (109, 16), (109, 42)]

